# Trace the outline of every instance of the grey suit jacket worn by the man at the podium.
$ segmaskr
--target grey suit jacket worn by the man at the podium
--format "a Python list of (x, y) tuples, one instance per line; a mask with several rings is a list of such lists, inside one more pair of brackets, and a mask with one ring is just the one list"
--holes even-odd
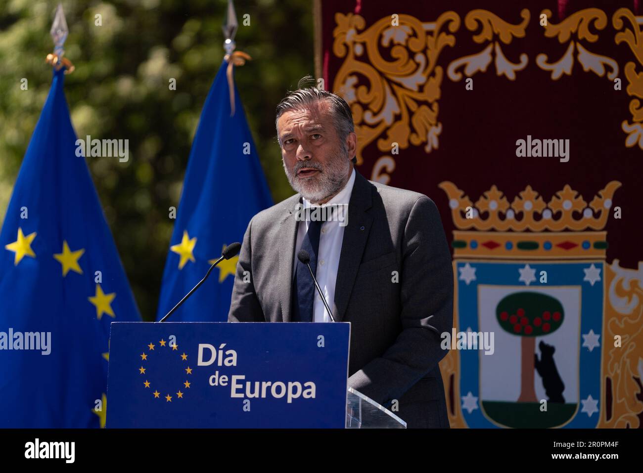
[[(228, 321), (291, 321), (299, 201), (293, 195), (249, 223)], [(440, 334), (453, 322), (453, 269), (431, 199), (356, 172), (334, 302), (336, 321), (351, 323), (349, 386), (397, 404), (408, 427), (449, 427), (438, 362)]]

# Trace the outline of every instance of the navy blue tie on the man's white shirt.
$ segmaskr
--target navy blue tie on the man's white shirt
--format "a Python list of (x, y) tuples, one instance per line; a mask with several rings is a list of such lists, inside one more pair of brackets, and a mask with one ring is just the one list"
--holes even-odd
[[(301, 249), (311, 256), (312, 273), (317, 275), (317, 254), (320, 248), (320, 231), (323, 221), (308, 222), (308, 231), (303, 237)], [(294, 256), (297, 258), (297, 255)], [(315, 283), (307, 265), (297, 260), (293, 280), (293, 322), (312, 322), (312, 307), (315, 300)]]

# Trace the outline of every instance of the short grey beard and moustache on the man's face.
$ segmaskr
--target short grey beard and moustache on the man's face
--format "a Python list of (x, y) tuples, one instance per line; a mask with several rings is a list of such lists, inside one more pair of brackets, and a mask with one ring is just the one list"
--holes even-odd
[[(342, 150), (337, 154), (325, 167), (316, 161), (298, 161), (293, 168), (293, 172), (289, 172), (284, 164), (285, 175), (288, 182), (295, 192), (298, 192), (313, 203), (323, 201), (327, 197), (338, 193), (345, 184), (346, 176), (349, 174), (350, 161), (347, 152)], [(321, 173), (314, 178), (300, 179), (297, 177), (297, 172), (301, 168), (316, 168), (321, 170)]]

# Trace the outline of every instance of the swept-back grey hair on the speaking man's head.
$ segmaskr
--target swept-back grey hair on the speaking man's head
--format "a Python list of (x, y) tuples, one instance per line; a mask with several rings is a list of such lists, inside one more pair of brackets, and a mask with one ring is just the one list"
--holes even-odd
[[(350, 112), (349, 104), (337, 94), (318, 89), (314, 86), (314, 82), (315, 80), (312, 76), (303, 77), (297, 84), (297, 89), (295, 91), (289, 91), (282, 101), (279, 102), (276, 109), (275, 128), (277, 127), (277, 121), (279, 121), (280, 116), (285, 112), (305, 109), (311, 105), (325, 101), (331, 105), (331, 114), (334, 117), (333, 123), (340, 137), (341, 148), (345, 152), (346, 138), (349, 136), (349, 133), (355, 131), (353, 114)], [(277, 136), (277, 141), (281, 146), (282, 142), (279, 136)], [(353, 158), (353, 163), (355, 162), (356, 159)]]

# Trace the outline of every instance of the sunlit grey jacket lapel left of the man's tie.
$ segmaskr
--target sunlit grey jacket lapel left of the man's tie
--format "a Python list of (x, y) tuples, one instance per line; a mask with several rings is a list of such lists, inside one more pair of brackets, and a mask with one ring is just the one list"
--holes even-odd
[(277, 281), (280, 281), (280, 299), (282, 308), (282, 321), (291, 321), (291, 298), (293, 292), (293, 263), (294, 263), (294, 243), (297, 235), (297, 219), (295, 219), (294, 206), (301, 202), (300, 196), (293, 196), (292, 205), (288, 206), (284, 217), (279, 225), (279, 246), (283, 251), (279, 252), (279, 274)]

